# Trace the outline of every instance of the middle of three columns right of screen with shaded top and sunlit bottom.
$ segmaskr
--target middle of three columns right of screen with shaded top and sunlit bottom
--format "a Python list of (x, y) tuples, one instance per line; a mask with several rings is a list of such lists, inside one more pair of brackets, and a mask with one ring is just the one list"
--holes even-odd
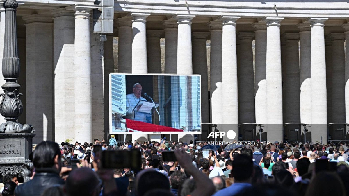
[(256, 123), (266, 124), (267, 115), (267, 26), (254, 23), (255, 29), (255, 116)]

